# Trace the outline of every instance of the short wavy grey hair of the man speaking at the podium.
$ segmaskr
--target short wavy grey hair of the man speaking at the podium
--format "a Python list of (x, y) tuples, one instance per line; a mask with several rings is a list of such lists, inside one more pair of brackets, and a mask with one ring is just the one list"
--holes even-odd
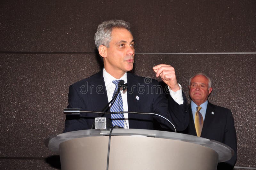
[(123, 20), (113, 19), (102, 22), (98, 26), (97, 32), (94, 35), (94, 41), (97, 49), (99, 50), (100, 45), (105, 45), (107, 48), (109, 47), (113, 28), (125, 28), (130, 31), (130, 27), (131, 24)]

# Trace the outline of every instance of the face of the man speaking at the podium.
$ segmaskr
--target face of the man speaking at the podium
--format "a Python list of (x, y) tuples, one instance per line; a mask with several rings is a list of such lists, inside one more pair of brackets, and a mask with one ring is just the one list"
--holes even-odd
[(113, 28), (111, 41), (104, 58), (108, 73), (123, 73), (132, 70), (134, 62), (134, 40), (132, 34), (124, 28)]

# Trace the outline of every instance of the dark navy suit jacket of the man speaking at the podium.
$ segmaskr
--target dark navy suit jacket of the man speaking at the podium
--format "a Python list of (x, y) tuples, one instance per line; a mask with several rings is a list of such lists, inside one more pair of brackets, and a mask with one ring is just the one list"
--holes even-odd
[[(127, 73), (127, 102), (129, 112), (158, 113), (172, 121), (176, 130), (188, 126), (187, 99), (183, 94), (183, 104), (176, 103), (172, 97), (166, 98), (162, 87), (154, 79), (145, 81), (132, 73)], [(136, 99), (139, 97), (139, 100)], [(68, 108), (81, 111), (101, 111), (108, 104), (102, 70), (89, 78), (78, 81), (69, 87)], [(109, 112), (109, 111), (108, 111)], [(90, 129), (98, 114), (85, 113), (83, 116), (66, 115), (64, 132)], [(111, 120), (111, 115), (106, 114)], [(153, 115), (129, 113), (129, 128), (171, 130), (172, 126), (163, 118)]]

